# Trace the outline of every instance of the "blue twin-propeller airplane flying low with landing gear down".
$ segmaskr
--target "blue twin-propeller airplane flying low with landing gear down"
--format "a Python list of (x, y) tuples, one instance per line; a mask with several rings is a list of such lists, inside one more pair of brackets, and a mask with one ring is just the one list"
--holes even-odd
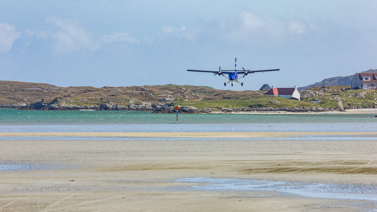
[[(247, 76), (247, 74), (252, 74), (252, 73), (255, 73), (255, 72), (269, 72), (269, 71), (279, 71), (280, 69), (269, 69), (269, 70), (258, 70), (258, 71), (250, 71), (250, 70), (245, 70), (243, 67), (242, 67), (242, 71), (237, 71), (237, 57), (234, 59), (235, 60), (235, 69), (234, 71), (233, 70), (221, 70), (221, 67), (218, 67), (218, 71), (203, 71), (203, 70), (191, 70), (191, 69), (188, 69), (188, 71), (192, 71), (192, 72), (203, 72), (203, 73), (213, 73), (215, 75), (218, 75), (218, 76), (224, 76), (224, 74), (227, 74), (228, 77), (225, 77), (226, 79), (229, 79), (228, 82), (224, 82), (224, 86), (226, 86), (229, 82), (232, 82), (232, 86), (234, 84), (234, 82), (238, 82), (241, 84), (241, 86), (243, 86), (243, 82), (239, 82), (238, 79), (240, 78), (244, 78), (245, 76)], [(241, 77), (239, 77), (238, 75), (239, 74), (243, 74)], [(214, 76), (215, 76), (214, 75)]]

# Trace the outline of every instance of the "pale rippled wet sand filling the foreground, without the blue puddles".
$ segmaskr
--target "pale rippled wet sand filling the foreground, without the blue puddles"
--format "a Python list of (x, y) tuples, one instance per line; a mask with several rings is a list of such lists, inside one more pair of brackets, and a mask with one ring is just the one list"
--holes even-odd
[[(377, 186), (375, 140), (273, 140), (297, 134), (247, 133), (216, 136), (200, 132), (196, 136), (257, 134), (271, 140), (142, 140), (148, 136), (195, 137), (195, 133), (120, 135), (135, 137), (132, 140), (5, 138), (0, 143), (0, 164), (38, 166), (33, 170), (0, 171), (0, 211), (370, 212), (377, 208), (370, 200), (304, 197), (273, 190), (196, 190), (189, 187), (207, 184), (177, 181), (206, 177)], [(377, 138), (373, 132), (361, 133)]]

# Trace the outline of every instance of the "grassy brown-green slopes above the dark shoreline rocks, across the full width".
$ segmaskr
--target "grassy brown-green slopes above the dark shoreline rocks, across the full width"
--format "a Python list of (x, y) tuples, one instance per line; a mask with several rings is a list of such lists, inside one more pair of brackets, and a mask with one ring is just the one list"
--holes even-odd
[[(102, 104), (130, 106), (139, 104), (173, 104), (210, 107), (214, 109), (240, 107), (374, 107), (377, 91), (352, 90), (349, 86), (313, 87), (301, 93), (301, 101), (265, 96), (262, 91), (216, 90), (191, 85), (145, 85), (124, 87), (58, 87), (43, 83), (0, 81), (0, 105), (50, 103), (58, 106), (100, 106)], [(312, 99), (321, 103), (311, 103)]]

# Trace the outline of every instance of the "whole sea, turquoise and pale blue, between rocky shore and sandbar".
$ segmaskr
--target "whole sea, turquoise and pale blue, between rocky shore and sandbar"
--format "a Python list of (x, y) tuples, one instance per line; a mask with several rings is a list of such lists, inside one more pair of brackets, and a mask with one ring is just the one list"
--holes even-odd
[(376, 132), (375, 115), (0, 109), (0, 132)]

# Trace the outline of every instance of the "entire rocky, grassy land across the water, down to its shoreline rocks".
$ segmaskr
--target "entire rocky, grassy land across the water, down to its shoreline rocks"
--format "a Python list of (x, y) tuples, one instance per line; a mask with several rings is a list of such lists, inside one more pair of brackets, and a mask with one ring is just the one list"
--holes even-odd
[[(301, 91), (301, 101), (263, 95), (263, 91), (216, 90), (192, 85), (58, 87), (44, 83), (0, 81), (0, 108), (42, 110), (142, 110), (159, 113), (212, 111), (321, 112), (376, 108), (377, 93), (349, 86), (321, 86)], [(312, 103), (312, 99), (320, 103)]]

